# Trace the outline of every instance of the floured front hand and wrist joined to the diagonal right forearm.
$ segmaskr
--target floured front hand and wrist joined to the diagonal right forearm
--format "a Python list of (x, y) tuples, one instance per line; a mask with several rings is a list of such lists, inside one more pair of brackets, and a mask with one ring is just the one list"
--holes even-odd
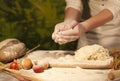
[(58, 32), (57, 42), (60, 44), (65, 44), (68, 42), (75, 41), (80, 38), (81, 34), (86, 32), (87, 24), (85, 22), (79, 23), (73, 28)]

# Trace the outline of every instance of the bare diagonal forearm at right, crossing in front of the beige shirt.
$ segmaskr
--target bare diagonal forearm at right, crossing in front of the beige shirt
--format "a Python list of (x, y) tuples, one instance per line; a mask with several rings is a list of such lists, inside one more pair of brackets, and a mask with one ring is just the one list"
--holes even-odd
[(82, 22), (81, 24), (85, 27), (86, 31), (89, 31), (91, 29), (94, 29), (96, 27), (99, 27), (107, 22), (109, 22), (110, 20), (113, 19), (113, 14), (105, 9), (103, 11), (101, 11), (100, 13), (98, 13), (97, 15), (89, 18), (88, 20)]

